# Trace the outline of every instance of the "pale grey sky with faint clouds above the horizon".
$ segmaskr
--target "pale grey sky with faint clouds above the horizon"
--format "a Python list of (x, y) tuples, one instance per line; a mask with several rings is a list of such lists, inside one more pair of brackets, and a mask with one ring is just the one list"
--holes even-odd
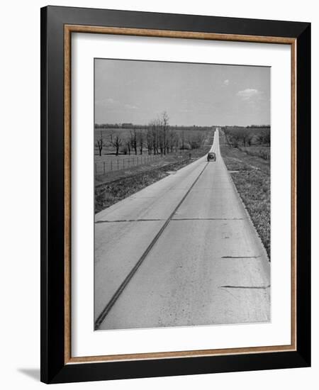
[(96, 59), (95, 123), (270, 124), (270, 68)]

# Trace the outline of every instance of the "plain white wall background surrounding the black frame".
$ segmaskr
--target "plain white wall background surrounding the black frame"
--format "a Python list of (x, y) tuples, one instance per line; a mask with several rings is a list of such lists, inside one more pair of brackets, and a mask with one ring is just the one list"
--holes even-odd
[[(313, 199), (318, 199), (319, 12), (315, 1), (109, 0), (54, 5), (312, 22)], [(45, 1), (1, 4), (0, 383), (38, 389), (40, 367), (40, 7)], [(315, 131), (317, 129), (317, 131)], [(306, 151), (305, 151), (306, 152)], [(315, 179), (317, 178), (317, 179)], [(313, 242), (318, 239), (313, 202)], [(318, 248), (313, 245), (313, 367), (191, 377), (60, 385), (60, 389), (314, 389), (319, 381)], [(317, 384), (317, 385), (315, 385)]]

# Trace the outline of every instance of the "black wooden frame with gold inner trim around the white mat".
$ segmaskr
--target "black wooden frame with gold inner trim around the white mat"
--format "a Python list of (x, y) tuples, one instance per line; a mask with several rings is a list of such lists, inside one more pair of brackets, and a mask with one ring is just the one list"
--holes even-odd
[[(74, 358), (70, 350), (72, 32), (291, 45), (291, 345)], [(41, 9), (41, 380), (310, 366), (310, 23), (48, 6)]]

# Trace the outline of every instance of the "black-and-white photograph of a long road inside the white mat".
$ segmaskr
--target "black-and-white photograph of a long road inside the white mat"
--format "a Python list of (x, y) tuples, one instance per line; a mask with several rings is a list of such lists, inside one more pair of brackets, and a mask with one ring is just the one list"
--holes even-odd
[(94, 60), (94, 330), (271, 321), (270, 77)]

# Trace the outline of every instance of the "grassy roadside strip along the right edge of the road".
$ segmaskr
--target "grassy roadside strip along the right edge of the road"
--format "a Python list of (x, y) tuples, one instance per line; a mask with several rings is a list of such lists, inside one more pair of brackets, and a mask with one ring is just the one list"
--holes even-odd
[(220, 152), (270, 259), (270, 160), (225, 145)]

